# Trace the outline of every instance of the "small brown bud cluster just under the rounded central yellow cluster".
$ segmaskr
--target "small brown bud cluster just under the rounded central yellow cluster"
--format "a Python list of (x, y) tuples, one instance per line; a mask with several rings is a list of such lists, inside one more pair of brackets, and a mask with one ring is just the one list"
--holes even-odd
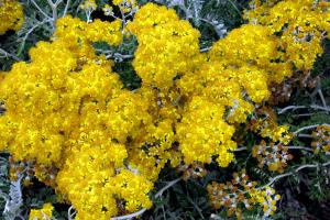
[(207, 175), (207, 169), (200, 162), (194, 162), (190, 165), (180, 164), (177, 166), (177, 172), (183, 173), (183, 179), (201, 178)]

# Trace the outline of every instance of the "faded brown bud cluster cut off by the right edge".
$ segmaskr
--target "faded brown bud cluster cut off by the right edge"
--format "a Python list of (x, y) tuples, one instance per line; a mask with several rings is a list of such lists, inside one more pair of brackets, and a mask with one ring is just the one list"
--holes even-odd
[(314, 147), (314, 153), (318, 154), (320, 151), (329, 152), (330, 151), (330, 127), (320, 125), (311, 133), (314, 141), (311, 146)]

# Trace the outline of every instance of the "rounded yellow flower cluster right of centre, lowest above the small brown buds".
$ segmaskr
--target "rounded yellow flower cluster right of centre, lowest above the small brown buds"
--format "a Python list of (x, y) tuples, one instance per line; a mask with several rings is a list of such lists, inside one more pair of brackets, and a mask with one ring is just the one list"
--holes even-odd
[(185, 162), (194, 161), (211, 163), (213, 155), (220, 155), (218, 163), (227, 167), (233, 160), (233, 154), (228, 151), (237, 148), (231, 141), (234, 128), (223, 122), (223, 111), (219, 105), (194, 97), (187, 111), (184, 113), (176, 131), (180, 143), (180, 151)]

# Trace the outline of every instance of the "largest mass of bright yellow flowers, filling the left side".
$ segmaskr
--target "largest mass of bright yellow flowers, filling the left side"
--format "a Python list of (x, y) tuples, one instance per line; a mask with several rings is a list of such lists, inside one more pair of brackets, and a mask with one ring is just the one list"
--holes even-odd
[[(118, 202), (128, 211), (151, 207), (153, 184), (124, 164), (128, 139), (150, 123), (148, 102), (122, 90), (112, 62), (91, 45), (120, 44), (120, 22), (59, 19), (53, 41), (37, 43), (31, 63), (14, 64), (0, 85), (1, 150), (35, 162), (36, 177), (56, 186), (77, 219), (109, 219)], [(45, 166), (56, 167), (55, 184)]]

